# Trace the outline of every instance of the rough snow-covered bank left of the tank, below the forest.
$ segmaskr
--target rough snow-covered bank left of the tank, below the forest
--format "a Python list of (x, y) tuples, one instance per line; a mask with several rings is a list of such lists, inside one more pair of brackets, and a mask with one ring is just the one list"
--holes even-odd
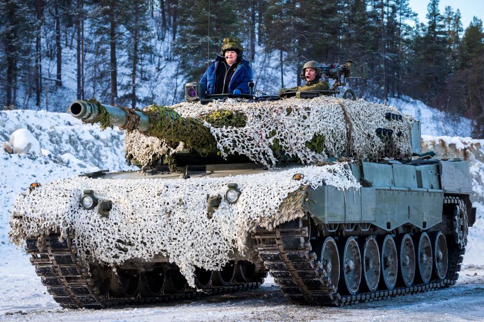
[(0, 244), (8, 243), (10, 209), (30, 183), (46, 184), (100, 169), (129, 170), (123, 152), (124, 135), (101, 131), (67, 113), (0, 111), (0, 142), (18, 129), (28, 130), (40, 143), (40, 153), (9, 154), (0, 147)]

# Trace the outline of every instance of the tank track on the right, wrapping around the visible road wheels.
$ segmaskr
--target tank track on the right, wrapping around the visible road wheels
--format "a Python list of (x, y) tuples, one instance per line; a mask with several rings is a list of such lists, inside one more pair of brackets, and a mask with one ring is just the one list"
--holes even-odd
[[(462, 200), (445, 197), (446, 204), (459, 204)], [(459, 277), (465, 248), (457, 245), (449, 248), (449, 268), (444, 280), (431, 280), (429, 283), (413, 284), (409, 287), (395, 287), (392, 290), (359, 292), (355, 295), (342, 295), (336, 292), (331, 280), (324, 277), (325, 271), (315, 252), (312, 252), (310, 236), (311, 217), (286, 222), (275, 230), (259, 229), (253, 234), (256, 250), (264, 261), (264, 266), (274, 277), (284, 296), (297, 304), (343, 306), (348, 304), (386, 299), (392, 296), (417, 294), (454, 285)], [(453, 243), (453, 240), (449, 241)], [(314, 243), (314, 242), (313, 242)]]

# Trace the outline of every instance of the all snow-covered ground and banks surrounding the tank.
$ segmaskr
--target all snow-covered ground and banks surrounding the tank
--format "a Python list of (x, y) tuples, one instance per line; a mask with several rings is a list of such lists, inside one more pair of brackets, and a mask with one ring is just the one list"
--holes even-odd
[[(444, 114), (421, 102), (392, 99), (390, 105), (422, 121), (422, 134), (429, 135), (423, 136), (426, 149), (435, 150), (441, 157), (469, 159), (477, 197), (484, 195), (484, 158), (481, 157), (484, 156), (484, 141), (435, 136), (469, 136), (469, 120), (455, 120), (450, 126)], [(39, 141), (41, 153), (9, 154), (4, 150), (3, 142), (9, 141), (19, 128), (33, 134)], [(130, 169), (124, 162), (123, 134), (117, 129), (100, 131), (97, 127), (82, 125), (65, 113), (14, 110), (0, 112), (0, 144), (0, 320), (484, 320), (484, 257), (481, 256), (484, 251), (484, 205), (481, 203), (475, 203), (478, 219), (469, 229), (465, 270), (456, 286), (444, 290), (344, 308), (326, 308), (289, 304), (269, 278), (256, 291), (221, 298), (208, 297), (195, 302), (185, 300), (98, 311), (61, 309), (36, 276), (29, 257), (23, 250), (9, 245), (10, 209), (18, 194), (32, 182), (42, 184), (100, 169)]]

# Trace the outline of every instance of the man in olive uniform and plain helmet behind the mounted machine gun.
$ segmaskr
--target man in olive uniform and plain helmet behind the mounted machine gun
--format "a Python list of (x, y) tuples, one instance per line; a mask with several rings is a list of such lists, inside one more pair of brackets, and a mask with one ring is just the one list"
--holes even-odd
[[(299, 75), (301, 79), (306, 81), (304, 86), (292, 87), (290, 89), (280, 89), (279, 97), (294, 96), (294, 93), (301, 91), (329, 91), (328, 81), (320, 81), (323, 76), (321, 71), (321, 64), (317, 61), (310, 60), (302, 66), (302, 72)], [(330, 93), (323, 93), (324, 95), (331, 95)]]

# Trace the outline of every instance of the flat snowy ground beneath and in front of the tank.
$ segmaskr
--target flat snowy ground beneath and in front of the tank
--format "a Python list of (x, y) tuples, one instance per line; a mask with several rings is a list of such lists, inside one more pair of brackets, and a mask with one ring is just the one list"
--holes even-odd
[[(484, 269), (469, 266), (457, 284), (437, 291), (394, 297), (348, 307), (294, 305), (273, 279), (259, 289), (199, 300), (108, 308), (62, 309), (28, 264), (28, 256), (0, 247), (0, 320), (2, 321), (468, 321), (484, 319)], [(9, 264), (7, 264), (9, 263)], [(27, 263), (27, 265), (25, 264)], [(465, 306), (465, 309), (462, 309)]]

